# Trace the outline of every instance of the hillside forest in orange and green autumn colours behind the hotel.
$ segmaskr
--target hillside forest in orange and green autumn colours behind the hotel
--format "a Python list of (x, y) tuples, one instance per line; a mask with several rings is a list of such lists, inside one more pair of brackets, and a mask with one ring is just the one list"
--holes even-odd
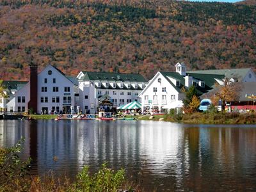
[(256, 65), (256, 6), (185, 1), (0, 1), (0, 79), (26, 79), (31, 56), (69, 75)]

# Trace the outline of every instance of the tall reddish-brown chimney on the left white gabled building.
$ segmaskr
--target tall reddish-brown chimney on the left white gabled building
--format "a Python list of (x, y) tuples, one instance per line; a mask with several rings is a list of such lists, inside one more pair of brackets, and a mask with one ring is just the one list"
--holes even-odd
[(28, 102), (28, 109), (33, 109), (34, 113), (37, 113), (37, 81), (38, 66), (31, 61), (30, 65), (30, 100)]

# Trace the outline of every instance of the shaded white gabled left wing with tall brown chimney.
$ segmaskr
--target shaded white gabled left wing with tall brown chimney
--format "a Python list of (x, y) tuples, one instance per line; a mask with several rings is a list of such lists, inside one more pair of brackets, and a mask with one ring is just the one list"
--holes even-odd
[(67, 77), (58, 68), (48, 65), (39, 74), (37, 66), (31, 66), (30, 81), (6, 104), (8, 111), (36, 113), (70, 112), (78, 105), (76, 78)]

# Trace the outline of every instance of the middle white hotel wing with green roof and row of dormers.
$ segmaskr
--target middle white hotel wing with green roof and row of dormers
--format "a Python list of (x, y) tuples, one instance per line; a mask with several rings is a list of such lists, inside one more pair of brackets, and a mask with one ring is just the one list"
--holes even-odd
[(107, 97), (113, 107), (139, 100), (138, 95), (147, 84), (140, 74), (82, 71), (77, 79), (81, 110), (90, 113), (97, 111), (101, 97)]

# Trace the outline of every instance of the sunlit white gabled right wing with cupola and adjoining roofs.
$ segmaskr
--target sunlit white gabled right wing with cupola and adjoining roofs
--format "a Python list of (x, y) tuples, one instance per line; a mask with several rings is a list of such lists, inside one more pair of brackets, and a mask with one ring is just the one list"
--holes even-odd
[(209, 92), (215, 84), (223, 84), (228, 77), (232, 82), (256, 82), (256, 75), (251, 68), (227, 70), (186, 71), (184, 63), (175, 65), (176, 72), (157, 72), (140, 93), (142, 109), (162, 111), (164, 106), (176, 100), (184, 99), (184, 88), (195, 86), (200, 95)]

